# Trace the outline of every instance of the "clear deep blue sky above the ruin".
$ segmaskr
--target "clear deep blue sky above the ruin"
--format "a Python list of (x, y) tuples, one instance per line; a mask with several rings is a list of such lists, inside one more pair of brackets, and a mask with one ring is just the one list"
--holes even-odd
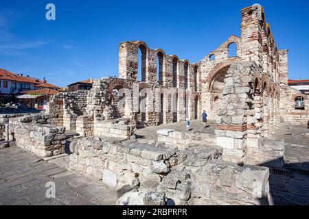
[[(45, 6), (56, 5), (56, 21)], [(264, 6), (279, 49), (289, 49), (290, 79), (309, 79), (309, 1), (1, 0), (0, 68), (65, 86), (118, 75), (119, 42), (202, 60), (230, 35), (241, 9)]]

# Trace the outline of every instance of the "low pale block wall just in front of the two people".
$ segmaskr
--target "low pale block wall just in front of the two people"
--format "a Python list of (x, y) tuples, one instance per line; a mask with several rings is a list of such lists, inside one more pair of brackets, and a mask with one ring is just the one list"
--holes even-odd
[(211, 133), (174, 131), (172, 129), (161, 129), (157, 131), (158, 142), (164, 142), (167, 146), (174, 146), (177, 149), (186, 149), (192, 144), (207, 146), (216, 145), (216, 136)]

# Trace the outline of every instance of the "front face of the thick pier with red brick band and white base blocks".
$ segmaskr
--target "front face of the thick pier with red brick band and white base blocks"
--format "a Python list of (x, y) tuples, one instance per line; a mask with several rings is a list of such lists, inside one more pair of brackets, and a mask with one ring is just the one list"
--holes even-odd
[[(248, 116), (253, 108), (253, 62), (231, 64), (218, 108), (216, 136), (225, 161), (242, 164), (247, 150)], [(250, 126), (251, 127), (251, 126)]]

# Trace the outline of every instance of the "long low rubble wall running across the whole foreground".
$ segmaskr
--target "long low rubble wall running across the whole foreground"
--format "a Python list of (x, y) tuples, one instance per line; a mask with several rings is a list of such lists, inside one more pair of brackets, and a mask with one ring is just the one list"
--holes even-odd
[[(102, 181), (120, 194), (135, 188), (133, 193), (142, 196), (142, 203), (153, 193), (166, 198), (161, 204), (268, 204), (268, 168), (222, 162), (220, 147), (194, 146), (178, 151), (134, 140), (90, 137), (72, 143), (70, 148), (70, 170)], [(123, 199), (119, 204), (125, 203)]]

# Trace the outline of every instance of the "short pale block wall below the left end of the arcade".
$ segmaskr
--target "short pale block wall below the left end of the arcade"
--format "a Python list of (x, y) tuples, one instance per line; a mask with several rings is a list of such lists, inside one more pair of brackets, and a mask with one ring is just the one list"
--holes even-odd
[(133, 129), (134, 127), (130, 125), (130, 120), (126, 119), (113, 121), (94, 120), (93, 136), (129, 140), (133, 136)]

